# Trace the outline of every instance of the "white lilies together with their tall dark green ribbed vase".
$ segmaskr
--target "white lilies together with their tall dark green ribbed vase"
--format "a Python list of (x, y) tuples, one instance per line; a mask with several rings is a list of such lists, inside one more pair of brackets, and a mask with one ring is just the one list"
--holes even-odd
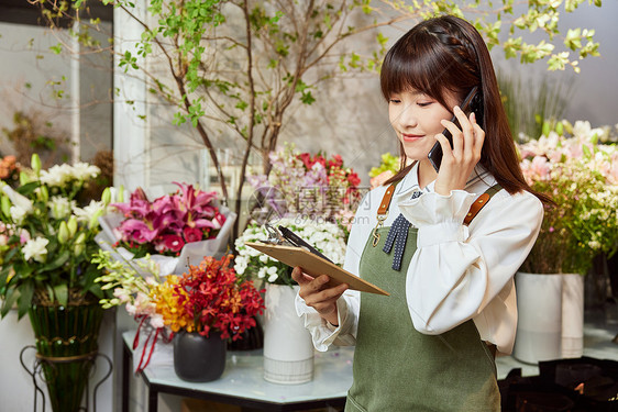
[(18, 318), (29, 314), (54, 411), (79, 409), (98, 348), (104, 292), (90, 257), (111, 191), (101, 201), (80, 199), (98, 174), (85, 163), (42, 170), (33, 155), (15, 189), (0, 183), (0, 315), (15, 304)]

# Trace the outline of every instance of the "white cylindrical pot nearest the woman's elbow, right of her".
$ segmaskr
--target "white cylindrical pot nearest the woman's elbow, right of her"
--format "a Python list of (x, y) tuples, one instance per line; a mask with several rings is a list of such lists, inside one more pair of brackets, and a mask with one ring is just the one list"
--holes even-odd
[(512, 356), (527, 364), (562, 357), (562, 276), (518, 271)]

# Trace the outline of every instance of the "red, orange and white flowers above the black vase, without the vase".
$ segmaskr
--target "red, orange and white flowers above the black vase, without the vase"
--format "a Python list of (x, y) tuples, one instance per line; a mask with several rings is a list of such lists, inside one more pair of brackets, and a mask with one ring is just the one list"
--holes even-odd
[(99, 250), (92, 261), (99, 269), (107, 269), (107, 274), (96, 281), (103, 283), (102, 290), (113, 289), (113, 298), (100, 301), (102, 307), (124, 304), (140, 322), (134, 349), (139, 346), (140, 330), (151, 326), (136, 371), (148, 365), (159, 336), (169, 342), (181, 330), (203, 336), (216, 330), (221, 332), (222, 339), (236, 341), (256, 325), (254, 316), (265, 309), (264, 290), (238, 276), (230, 267), (231, 260), (232, 255), (220, 260), (208, 256), (199, 266), (190, 266), (188, 274), (159, 277), (152, 260), (135, 264), (137, 268)]

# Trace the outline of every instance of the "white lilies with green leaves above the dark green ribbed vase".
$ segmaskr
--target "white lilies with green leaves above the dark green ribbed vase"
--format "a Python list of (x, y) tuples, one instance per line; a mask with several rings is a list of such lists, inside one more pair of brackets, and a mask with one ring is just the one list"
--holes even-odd
[(33, 155), (32, 169), (21, 172), (19, 186), (0, 182), (0, 318), (13, 303), (23, 316), (35, 290), (48, 291), (62, 305), (73, 290), (104, 297), (90, 258), (99, 249), (98, 218), (114, 192), (108, 188), (101, 200), (81, 199), (99, 172), (85, 163), (43, 170)]

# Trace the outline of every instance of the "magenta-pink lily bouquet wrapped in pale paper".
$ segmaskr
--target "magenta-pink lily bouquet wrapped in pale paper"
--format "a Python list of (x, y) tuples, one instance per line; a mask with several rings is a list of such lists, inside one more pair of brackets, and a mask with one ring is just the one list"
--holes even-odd
[(236, 214), (221, 208), (217, 192), (178, 183), (174, 193), (148, 200), (137, 188), (129, 202), (110, 204), (101, 218), (99, 245), (124, 260), (152, 256), (161, 274), (183, 272), (205, 256), (223, 255)]

